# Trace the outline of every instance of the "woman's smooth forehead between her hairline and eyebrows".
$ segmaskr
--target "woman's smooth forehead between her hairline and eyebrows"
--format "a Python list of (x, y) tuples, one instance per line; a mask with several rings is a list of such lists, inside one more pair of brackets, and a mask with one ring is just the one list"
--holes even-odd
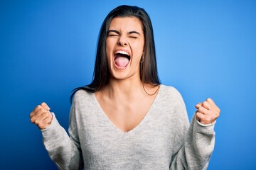
[(133, 31), (142, 33), (142, 22), (136, 17), (115, 17), (110, 22), (110, 30)]

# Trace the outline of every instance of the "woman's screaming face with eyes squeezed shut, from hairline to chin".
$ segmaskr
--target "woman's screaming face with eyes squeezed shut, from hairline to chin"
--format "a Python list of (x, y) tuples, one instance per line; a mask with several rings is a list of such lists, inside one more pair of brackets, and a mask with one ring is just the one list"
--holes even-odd
[(144, 50), (142, 23), (136, 17), (116, 17), (107, 33), (107, 62), (111, 78), (139, 78), (139, 63)]

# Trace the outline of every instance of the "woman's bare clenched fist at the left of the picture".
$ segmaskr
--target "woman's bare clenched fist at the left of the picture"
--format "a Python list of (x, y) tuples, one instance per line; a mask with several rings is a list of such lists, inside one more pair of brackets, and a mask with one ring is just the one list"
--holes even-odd
[(39, 129), (43, 130), (48, 128), (53, 120), (53, 114), (50, 113), (50, 108), (46, 103), (36, 106), (36, 108), (30, 114), (31, 123), (38, 126)]

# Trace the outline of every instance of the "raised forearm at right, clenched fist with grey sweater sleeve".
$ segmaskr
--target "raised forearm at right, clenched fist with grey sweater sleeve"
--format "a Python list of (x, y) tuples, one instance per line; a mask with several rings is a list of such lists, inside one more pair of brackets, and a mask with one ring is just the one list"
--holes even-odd
[(220, 115), (220, 109), (213, 100), (208, 98), (196, 105), (196, 111), (185, 136), (176, 139), (184, 140), (176, 152), (170, 169), (207, 169), (215, 145), (215, 120)]

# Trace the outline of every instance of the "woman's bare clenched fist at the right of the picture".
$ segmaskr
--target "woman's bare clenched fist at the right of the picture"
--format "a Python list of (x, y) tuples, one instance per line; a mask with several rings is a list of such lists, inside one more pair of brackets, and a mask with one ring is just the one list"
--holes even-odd
[(214, 123), (220, 116), (220, 108), (210, 98), (207, 98), (203, 103), (198, 103), (195, 107), (198, 109), (196, 119), (205, 125)]

